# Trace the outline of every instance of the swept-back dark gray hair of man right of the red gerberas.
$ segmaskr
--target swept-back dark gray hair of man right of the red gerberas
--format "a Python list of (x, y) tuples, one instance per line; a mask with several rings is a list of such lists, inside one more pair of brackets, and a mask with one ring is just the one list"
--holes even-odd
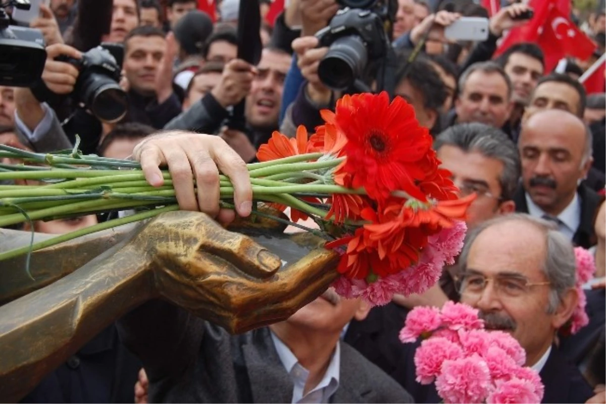
[(433, 142), (436, 151), (444, 145), (455, 146), (466, 153), (477, 151), (484, 157), (501, 161), (501, 200), (513, 198), (522, 170), (520, 155), (516, 145), (501, 129), (478, 122), (460, 123), (450, 126)]

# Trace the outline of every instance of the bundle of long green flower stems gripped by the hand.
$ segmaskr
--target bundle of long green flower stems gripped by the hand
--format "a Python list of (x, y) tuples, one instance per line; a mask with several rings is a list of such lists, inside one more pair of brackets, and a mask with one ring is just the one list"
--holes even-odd
[[(320, 173), (339, 165), (342, 158), (310, 162), (321, 155), (310, 153), (249, 164), (254, 200), (284, 204), (308, 213), (311, 217), (324, 218), (328, 206), (307, 203), (300, 197), (325, 198), (330, 194), (339, 193), (364, 194), (363, 190), (353, 191), (335, 184), (327, 184)], [(0, 227), (36, 220), (48, 221), (93, 213), (136, 210), (132, 215), (0, 253), (0, 261), (179, 209), (170, 173), (163, 171), (164, 183), (162, 186), (153, 187), (145, 180), (141, 166), (136, 161), (82, 155), (77, 146), (73, 150), (39, 154), (0, 145), (0, 158), (21, 161), (19, 164), (0, 164), (0, 181), (35, 181), (35, 184), (0, 185)], [(301, 180), (305, 180), (305, 184), (301, 184)], [(233, 208), (234, 189), (230, 179), (221, 175), (219, 186), (221, 206)], [(256, 209), (253, 209), (253, 215), (267, 216)], [(313, 231), (282, 218), (271, 218)]]

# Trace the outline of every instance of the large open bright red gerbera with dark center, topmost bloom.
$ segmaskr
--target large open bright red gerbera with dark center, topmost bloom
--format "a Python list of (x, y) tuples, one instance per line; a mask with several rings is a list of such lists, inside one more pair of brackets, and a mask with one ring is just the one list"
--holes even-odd
[(344, 171), (351, 174), (351, 186), (364, 187), (379, 201), (396, 190), (426, 200), (417, 184), (426, 173), (418, 162), (430, 150), (431, 136), (404, 99), (390, 104), (385, 92), (343, 97), (330, 118), (347, 137)]

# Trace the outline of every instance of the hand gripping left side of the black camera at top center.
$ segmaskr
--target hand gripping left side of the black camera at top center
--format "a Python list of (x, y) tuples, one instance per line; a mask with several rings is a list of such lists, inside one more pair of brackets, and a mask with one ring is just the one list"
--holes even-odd
[(328, 53), (327, 47), (318, 48), (318, 38), (305, 36), (293, 41), (293, 50), (298, 56), (297, 65), (307, 80), (307, 95), (318, 105), (330, 102), (331, 90), (318, 76), (318, 67), (322, 57)]

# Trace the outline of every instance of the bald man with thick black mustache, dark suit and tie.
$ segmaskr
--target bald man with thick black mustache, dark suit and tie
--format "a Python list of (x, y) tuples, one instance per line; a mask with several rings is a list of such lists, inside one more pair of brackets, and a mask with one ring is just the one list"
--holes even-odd
[(574, 244), (591, 247), (599, 197), (582, 183), (593, 162), (591, 132), (573, 114), (547, 109), (528, 117), (518, 146), (516, 210), (553, 221)]

